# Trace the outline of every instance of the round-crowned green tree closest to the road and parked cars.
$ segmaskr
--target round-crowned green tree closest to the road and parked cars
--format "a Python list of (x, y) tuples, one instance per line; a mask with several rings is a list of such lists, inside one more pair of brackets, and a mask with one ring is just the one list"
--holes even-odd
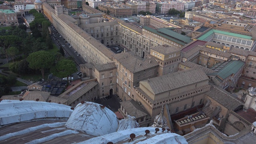
[(77, 71), (76, 64), (72, 60), (60, 60), (57, 64), (51, 69), (51, 72), (54, 76), (59, 78), (65, 78)]

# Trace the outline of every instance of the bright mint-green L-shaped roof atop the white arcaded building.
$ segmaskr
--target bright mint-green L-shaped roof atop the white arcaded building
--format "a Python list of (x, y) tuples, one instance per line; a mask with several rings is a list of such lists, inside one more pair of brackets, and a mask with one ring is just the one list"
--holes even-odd
[(233, 32), (225, 32), (225, 31), (222, 31), (222, 30), (213, 30), (212, 29), (212, 30), (209, 30), (208, 32), (206, 32), (205, 34), (203, 34), (202, 36), (200, 36), (198, 38), (198, 40), (205, 40), (208, 36), (210, 36), (213, 33), (224, 34), (224, 35), (228, 35), (228, 36), (232, 36), (232, 37), (244, 38), (244, 39), (249, 39), (249, 40), (252, 39), (252, 36), (246, 36), (246, 35), (243, 35), (243, 34), (236, 34), (236, 33), (233, 33)]

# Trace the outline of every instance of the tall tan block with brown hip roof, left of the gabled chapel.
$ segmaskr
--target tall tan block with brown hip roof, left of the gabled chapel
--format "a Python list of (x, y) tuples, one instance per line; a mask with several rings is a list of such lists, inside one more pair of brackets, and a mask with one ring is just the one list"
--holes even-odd
[(116, 54), (113, 61), (117, 68), (116, 94), (122, 100), (134, 99), (134, 87), (138, 86), (138, 82), (157, 76), (158, 62), (153, 58), (144, 60), (140, 56), (134, 56), (132, 52), (124, 52)]

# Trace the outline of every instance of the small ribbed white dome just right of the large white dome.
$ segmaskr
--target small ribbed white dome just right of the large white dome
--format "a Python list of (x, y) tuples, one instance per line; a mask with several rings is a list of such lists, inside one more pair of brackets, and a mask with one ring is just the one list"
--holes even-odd
[(135, 121), (134, 116), (127, 115), (123, 120), (119, 120), (118, 131), (138, 128), (140, 125)]

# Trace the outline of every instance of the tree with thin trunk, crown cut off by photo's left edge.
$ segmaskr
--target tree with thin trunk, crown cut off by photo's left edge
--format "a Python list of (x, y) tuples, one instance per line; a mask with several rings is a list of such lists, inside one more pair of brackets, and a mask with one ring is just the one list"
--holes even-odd
[(11, 46), (16, 46), (21, 41), (21, 38), (18, 36), (0, 36), (0, 46), (4, 48), (4, 53), (6, 55), (7, 61), (8, 61), (8, 54), (6, 50), (10, 48)]

